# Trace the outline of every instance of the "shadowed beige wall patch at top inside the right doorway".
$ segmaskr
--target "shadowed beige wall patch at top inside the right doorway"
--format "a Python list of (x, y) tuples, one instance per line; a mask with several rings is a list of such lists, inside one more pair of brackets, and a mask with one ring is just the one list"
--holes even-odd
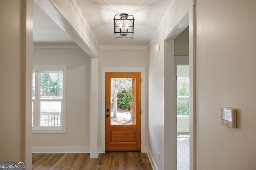
[(174, 39), (174, 55), (189, 55), (188, 27)]

